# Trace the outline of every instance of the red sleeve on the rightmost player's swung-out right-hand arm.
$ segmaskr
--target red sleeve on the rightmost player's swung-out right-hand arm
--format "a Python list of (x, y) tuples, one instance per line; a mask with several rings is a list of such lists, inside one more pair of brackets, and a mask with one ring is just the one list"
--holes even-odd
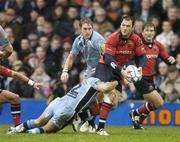
[(155, 44), (159, 47), (159, 56), (160, 56), (160, 58), (163, 59), (163, 60), (166, 60), (169, 57), (169, 54), (165, 50), (164, 46), (158, 41), (155, 41)]

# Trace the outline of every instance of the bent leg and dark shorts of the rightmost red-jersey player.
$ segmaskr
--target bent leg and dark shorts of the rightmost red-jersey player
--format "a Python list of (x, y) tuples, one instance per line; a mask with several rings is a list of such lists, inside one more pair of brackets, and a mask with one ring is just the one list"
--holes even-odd
[(144, 94), (143, 97), (147, 101), (145, 104), (129, 113), (135, 129), (142, 129), (143, 127), (140, 124), (142, 124), (149, 113), (163, 105), (161, 96), (154, 89), (152, 82), (150, 82), (151, 81), (148, 82), (146, 79), (142, 78), (140, 82), (135, 83), (136, 88), (141, 94)]

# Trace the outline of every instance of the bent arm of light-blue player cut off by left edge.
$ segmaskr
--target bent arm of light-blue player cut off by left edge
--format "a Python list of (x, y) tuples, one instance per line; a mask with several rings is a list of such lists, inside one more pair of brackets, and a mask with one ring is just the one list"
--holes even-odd
[(13, 52), (13, 47), (11, 43), (8, 41), (6, 33), (1, 26), (0, 26), (0, 46), (2, 47), (2, 49), (0, 50), (0, 59), (9, 57)]

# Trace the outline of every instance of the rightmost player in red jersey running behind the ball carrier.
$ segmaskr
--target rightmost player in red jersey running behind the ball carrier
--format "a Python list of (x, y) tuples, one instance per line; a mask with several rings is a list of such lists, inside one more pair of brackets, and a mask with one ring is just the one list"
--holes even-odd
[(174, 57), (168, 55), (163, 45), (154, 40), (154, 36), (155, 26), (152, 23), (145, 24), (142, 32), (142, 41), (145, 45), (147, 63), (142, 69), (141, 81), (134, 83), (134, 85), (136, 86), (136, 89), (143, 94), (146, 103), (129, 112), (135, 129), (143, 129), (141, 126), (143, 120), (151, 111), (160, 108), (164, 103), (153, 84), (157, 58), (160, 57), (167, 64), (175, 63)]

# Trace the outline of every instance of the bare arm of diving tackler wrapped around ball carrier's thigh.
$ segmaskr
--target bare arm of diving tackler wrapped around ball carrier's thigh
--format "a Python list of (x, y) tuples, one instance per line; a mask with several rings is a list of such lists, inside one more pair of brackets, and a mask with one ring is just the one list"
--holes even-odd
[(112, 82), (99, 82), (97, 86), (97, 90), (100, 92), (108, 92), (113, 90), (118, 85), (117, 81)]

